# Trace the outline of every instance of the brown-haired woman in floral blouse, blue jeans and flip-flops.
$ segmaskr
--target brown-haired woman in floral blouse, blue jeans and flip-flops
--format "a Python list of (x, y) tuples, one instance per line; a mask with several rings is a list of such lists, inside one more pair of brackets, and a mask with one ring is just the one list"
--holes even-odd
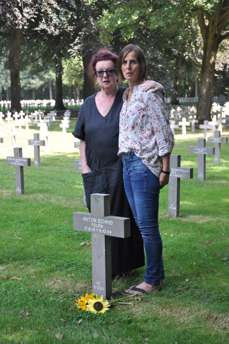
[(119, 54), (119, 76), (129, 88), (123, 94), (119, 122), (119, 152), (125, 192), (146, 251), (145, 279), (125, 291), (143, 294), (165, 283), (158, 211), (160, 189), (169, 182), (169, 160), (174, 146), (165, 101), (159, 92), (142, 92), (146, 58), (138, 45)]

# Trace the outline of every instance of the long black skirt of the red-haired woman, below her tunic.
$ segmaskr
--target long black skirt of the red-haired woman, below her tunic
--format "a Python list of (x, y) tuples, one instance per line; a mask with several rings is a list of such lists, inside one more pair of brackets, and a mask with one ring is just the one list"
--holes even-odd
[(144, 245), (139, 228), (133, 217), (123, 182), (109, 187), (111, 215), (130, 218), (130, 237), (111, 238), (112, 273), (125, 272), (145, 265)]

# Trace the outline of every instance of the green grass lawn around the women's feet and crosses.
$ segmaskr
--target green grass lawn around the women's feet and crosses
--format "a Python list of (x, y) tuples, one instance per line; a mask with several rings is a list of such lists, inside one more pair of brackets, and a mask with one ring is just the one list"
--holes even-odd
[[(62, 138), (60, 120), (50, 127), (49, 153), (41, 147), (41, 167), (33, 166), (37, 127), (16, 137), (23, 157), (24, 195), (16, 196), (15, 167), (7, 124), (0, 143), (0, 344), (216, 344), (228, 341), (228, 145), (221, 164), (206, 158), (206, 181), (197, 180), (197, 145), (202, 130), (181, 130), (174, 154), (193, 167), (193, 179), (181, 179), (180, 216), (168, 215), (168, 187), (160, 194), (160, 232), (166, 269), (162, 291), (119, 304), (102, 314), (83, 312), (74, 299), (91, 293), (91, 237), (73, 231), (72, 213), (87, 211), (82, 198), (79, 159), (70, 121)], [(190, 130), (190, 129), (188, 129)], [(223, 136), (229, 136), (224, 132)], [(42, 139), (42, 137), (41, 137)], [(208, 144), (207, 146), (213, 146)], [(113, 282), (115, 298), (142, 281), (145, 268)]]

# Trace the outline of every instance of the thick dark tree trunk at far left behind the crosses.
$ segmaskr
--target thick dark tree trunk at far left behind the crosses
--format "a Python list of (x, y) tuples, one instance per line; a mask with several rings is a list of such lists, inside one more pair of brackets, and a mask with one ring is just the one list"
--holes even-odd
[(22, 29), (10, 28), (10, 81), (11, 81), (11, 110), (21, 110), (20, 103), (20, 74), (19, 58), (21, 52)]

